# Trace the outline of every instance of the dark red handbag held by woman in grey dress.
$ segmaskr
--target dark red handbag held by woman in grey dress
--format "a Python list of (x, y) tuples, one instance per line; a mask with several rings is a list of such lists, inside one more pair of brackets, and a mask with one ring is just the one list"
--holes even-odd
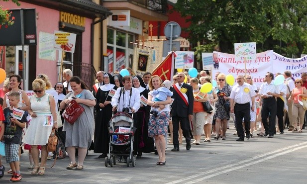
[(70, 124), (74, 124), (78, 117), (84, 111), (83, 106), (81, 106), (76, 100), (72, 99), (70, 104), (65, 108), (62, 116)]

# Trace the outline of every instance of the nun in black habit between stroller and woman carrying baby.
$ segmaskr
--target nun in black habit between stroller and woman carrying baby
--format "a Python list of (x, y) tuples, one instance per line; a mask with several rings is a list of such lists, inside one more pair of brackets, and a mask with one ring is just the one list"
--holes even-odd
[[(134, 76), (132, 79), (132, 85), (136, 88), (141, 95), (141, 98), (144, 96), (148, 98), (148, 90), (146, 85), (143, 82), (142, 78), (139, 76)], [(141, 99), (142, 101), (142, 99)], [(154, 141), (152, 137), (148, 137), (148, 121), (149, 121), (149, 110), (150, 106), (145, 106), (141, 103), (141, 107), (136, 112), (137, 125), (136, 132), (134, 134), (134, 155), (137, 155), (137, 158), (142, 157), (142, 153), (154, 152)]]

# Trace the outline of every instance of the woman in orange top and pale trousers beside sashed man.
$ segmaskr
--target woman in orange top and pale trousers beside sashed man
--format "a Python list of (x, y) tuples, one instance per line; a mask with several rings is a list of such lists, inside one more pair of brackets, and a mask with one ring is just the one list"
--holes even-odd
[(198, 93), (200, 92), (200, 88), (198, 86), (199, 80), (197, 78), (192, 78), (190, 80), (191, 86), (193, 88), (194, 94), (194, 105), (193, 105), (193, 136), (195, 141), (192, 144), (200, 145), (201, 144), (201, 136), (203, 133), (203, 128), (205, 124), (205, 117), (210, 115), (204, 110), (204, 106), (202, 102), (208, 100), (207, 97), (200, 98)]

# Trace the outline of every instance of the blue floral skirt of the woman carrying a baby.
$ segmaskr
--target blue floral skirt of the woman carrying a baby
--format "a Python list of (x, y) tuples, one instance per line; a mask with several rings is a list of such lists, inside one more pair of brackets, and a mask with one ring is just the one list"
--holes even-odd
[(163, 111), (157, 117), (150, 116), (148, 122), (148, 137), (155, 135), (167, 136), (167, 128), (170, 121), (170, 112)]

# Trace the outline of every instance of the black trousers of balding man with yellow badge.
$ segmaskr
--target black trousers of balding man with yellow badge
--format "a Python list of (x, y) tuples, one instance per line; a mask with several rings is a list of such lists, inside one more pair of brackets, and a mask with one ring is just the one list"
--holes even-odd
[(238, 137), (243, 138), (245, 137), (244, 135), (244, 130), (243, 130), (243, 118), (244, 118), (244, 127), (245, 127), (245, 132), (246, 135), (250, 133), (250, 103), (244, 103), (244, 104), (239, 104), (236, 103), (234, 105), (234, 114), (235, 114), (235, 122), (236, 122), (236, 129), (238, 133)]

